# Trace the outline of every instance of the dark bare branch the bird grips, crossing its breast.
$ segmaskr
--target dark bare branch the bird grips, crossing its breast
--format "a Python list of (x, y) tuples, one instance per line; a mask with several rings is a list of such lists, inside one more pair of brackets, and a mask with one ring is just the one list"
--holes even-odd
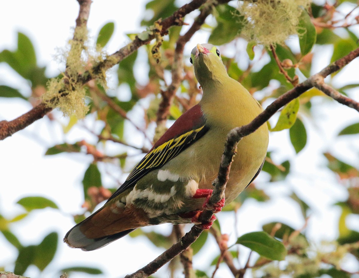
[[(238, 142), (247, 135), (255, 132), (262, 124), (265, 124), (266, 121), (269, 120), (271, 116), (273, 116), (281, 107), (288, 104), (291, 100), (297, 98), (299, 95), (303, 94), (305, 91), (319, 86), (318, 84), (323, 84), (323, 79), (332, 74), (333, 72), (342, 69), (345, 65), (353, 61), (356, 57), (359, 56), (359, 48), (350, 52), (348, 55), (340, 58), (339, 60), (331, 63), (319, 73), (309, 77), (303, 83), (298, 84), (292, 90), (289, 90), (285, 94), (281, 95), (278, 99), (272, 102), (261, 114), (259, 114), (252, 122), (246, 124), (242, 127), (236, 127), (232, 129), (228, 135), (227, 140), (224, 145), (224, 152), (221, 158), (220, 168), (218, 171), (217, 178), (213, 181), (213, 193), (211, 198), (209, 199), (208, 206), (218, 203), (224, 197), (225, 186), (228, 181), (228, 176), (230, 172), (230, 166), (232, 165), (232, 161), (234, 156), (237, 153), (237, 144)], [(322, 86), (322, 85), (321, 85)], [(339, 100), (337, 98), (336, 100)], [(349, 101), (350, 100), (350, 101)], [(358, 107), (358, 103), (354, 100), (348, 98), (349, 107)], [(343, 103), (345, 104), (345, 103)], [(201, 214), (200, 221), (206, 223), (213, 216), (212, 211), (205, 210), (204, 213)], [(183, 252), (188, 246), (190, 246), (193, 242), (201, 234), (202, 230), (194, 225), (185, 236), (181, 238), (176, 244), (172, 245), (171, 248), (164, 251), (161, 255), (159, 255), (156, 259), (151, 261), (145, 267), (137, 270), (136, 272), (126, 275), (125, 278), (145, 278), (149, 275), (155, 273), (160, 267), (164, 264), (168, 263), (169, 260), (172, 260), (175, 256)], [(233, 269), (234, 270), (234, 269)]]

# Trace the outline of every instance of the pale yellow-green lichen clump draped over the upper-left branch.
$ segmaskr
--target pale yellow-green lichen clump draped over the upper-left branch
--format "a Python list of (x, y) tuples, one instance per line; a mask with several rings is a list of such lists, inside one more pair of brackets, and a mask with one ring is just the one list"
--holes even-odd
[(86, 90), (79, 81), (79, 76), (88, 74), (103, 88), (107, 88), (106, 72), (96, 75), (92, 72), (93, 65), (103, 61), (105, 54), (101, 49), (93, 50), (87, 46), (88, 30), (86, 25), (76, 27), (74, 39), (69, 41), (69, 51), (65, 52), (66, 70), (62, 79), (53, 78), (47, 83), (47, 92), (42, 96), (42, 102), (52, 108), (60, 109), (65, 116), (75, 115), (84, 118), (88, 112), (85, 103)]

